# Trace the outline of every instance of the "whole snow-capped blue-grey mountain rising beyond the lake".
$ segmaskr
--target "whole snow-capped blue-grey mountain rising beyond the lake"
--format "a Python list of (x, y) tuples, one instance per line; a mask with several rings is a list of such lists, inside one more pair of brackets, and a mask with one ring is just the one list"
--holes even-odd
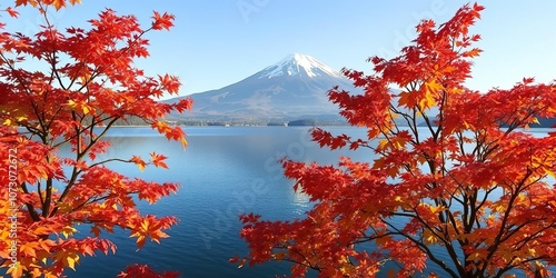
[(191, 95), (192, 112), (181, 117), (262, 122), (301, 118), (339, 120), (338, 108), (327, 97), (335, 86), (355, 90), (340, 72), (314, 57), (289, 54), (241, 81)]

